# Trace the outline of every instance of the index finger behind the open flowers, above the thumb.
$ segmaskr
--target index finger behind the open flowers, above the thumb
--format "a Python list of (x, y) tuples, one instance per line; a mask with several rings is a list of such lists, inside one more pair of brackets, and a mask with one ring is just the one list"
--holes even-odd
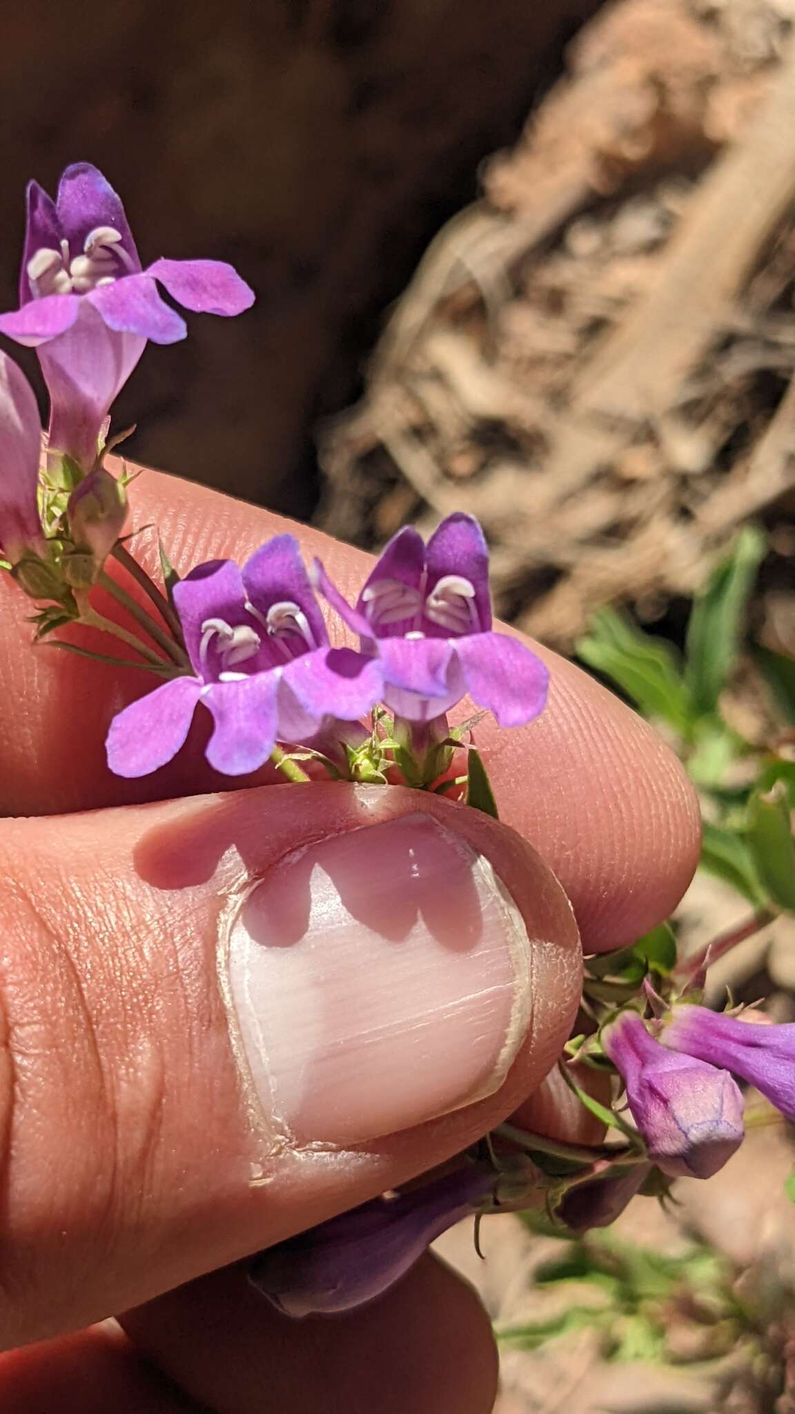
[[(136, 522), (154, 522), (177, 567), (218, 556), (245, 559), (284, 522), (188, 482), (143, 472)], [(323, 553), (354, 592), (368, 557), (296, 527), (307, 556)], [(136, 553), (156, 571), (156, 547)], [(202, 762), (201, 742), (173, 766), (137, 782), (105, 766), (112, 715), (149, 684), (54, 649), (30, 648), (24, 601), (0, 583), (0, 807), (41, 814), (126, 800), (228, 789)], [(106, 643), (100, 645), (106, 648)], [(697, 861), (697, 806), (679, 762), (634, 713), (553, 653), (550, 700), (526, 728), (478, 727), (502, 819), (543, 854), (569, 894), (587, 949), (631, 942), (665, 918)], [(201, 728), (199, 728), (201, 735)], [(239, 785), (236, 779), (233, 782)], [(245, 782), (243, 782), (245, 783)]]

